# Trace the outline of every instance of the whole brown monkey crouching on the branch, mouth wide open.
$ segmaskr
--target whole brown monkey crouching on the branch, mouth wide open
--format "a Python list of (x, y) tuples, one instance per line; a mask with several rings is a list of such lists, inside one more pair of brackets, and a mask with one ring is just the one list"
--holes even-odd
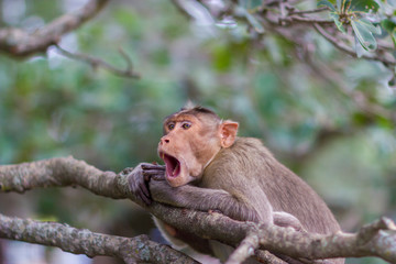
[[(166, 117), (157, 147), (165, 165), (139, 164), (128, 175), (131, 191), (146, 206), (155, 200), (301, 232), (330, 234), (340, 231), (319, 195), (279, 163), (261, 140), (237, 136), (238, 129), (238, 122), (222, 120), (204, 107), (185, 107)], [(161, 184), (164, 182), (166, 184)], [(232, 252), (220, 242), (154, 220), (176, 248), (187, 244), (221, 261)], [(289, 258), (287, 262), (301, 263)], [(344, 260), (334, 258), (329, 263), (342, 264)]]

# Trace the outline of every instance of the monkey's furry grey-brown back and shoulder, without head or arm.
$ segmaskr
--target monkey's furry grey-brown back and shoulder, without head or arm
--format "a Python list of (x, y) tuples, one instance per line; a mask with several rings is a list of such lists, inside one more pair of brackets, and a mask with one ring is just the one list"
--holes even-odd
[(205, 170), (200, 186), (224, 189), (258, 210), (268, 199), (274, 211), (295, 216), (310, 232), (340, 230), (324, 201), (257, 139), (238, 138), (231, 147), (221, 150)]

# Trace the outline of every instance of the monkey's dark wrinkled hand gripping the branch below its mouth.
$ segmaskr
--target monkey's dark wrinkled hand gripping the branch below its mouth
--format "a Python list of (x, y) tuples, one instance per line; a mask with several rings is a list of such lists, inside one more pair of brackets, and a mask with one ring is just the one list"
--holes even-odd
[(144, 205), (150, 206), (153, 199), (150, 194), (148, 182), (152, 178), (155, 180), (165, 179), (165, 166), (141, 163), (127, 177), (134, 196)]

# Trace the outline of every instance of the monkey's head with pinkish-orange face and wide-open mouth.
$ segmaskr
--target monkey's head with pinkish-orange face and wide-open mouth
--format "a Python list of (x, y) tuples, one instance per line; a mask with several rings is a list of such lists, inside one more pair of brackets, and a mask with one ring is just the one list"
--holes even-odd
[(158, 155), (165, 162), (167, 182), (177, 187), (199, 179), (216, 154), (234, 143), (238, 123), (193, 107), (165, 118), (163, 129)]

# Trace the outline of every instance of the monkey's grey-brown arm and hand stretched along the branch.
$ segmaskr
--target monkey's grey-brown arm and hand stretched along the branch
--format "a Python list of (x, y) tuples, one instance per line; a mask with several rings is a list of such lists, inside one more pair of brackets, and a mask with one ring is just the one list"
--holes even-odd
[(299, 220), (294, 216), (287, 212), (273, 212), (271, 205), (265, 202), (266, 199), (261, 199), (260, 206), (252, 207), (243, 197), (232, 196), (222, 189), (200, 188), (191, 185), (172, 187), (165, 180), (164, 174), (165, 166), (150, 163), (139, 164), (129, 174), (132, 193), (145, 205), (151, 205), (154, 199), (175, 207), (200, 211), (221, 211), (235, 220), (270, 221), (279, 227), (292, 227), (297, 231), (304, 230)]

